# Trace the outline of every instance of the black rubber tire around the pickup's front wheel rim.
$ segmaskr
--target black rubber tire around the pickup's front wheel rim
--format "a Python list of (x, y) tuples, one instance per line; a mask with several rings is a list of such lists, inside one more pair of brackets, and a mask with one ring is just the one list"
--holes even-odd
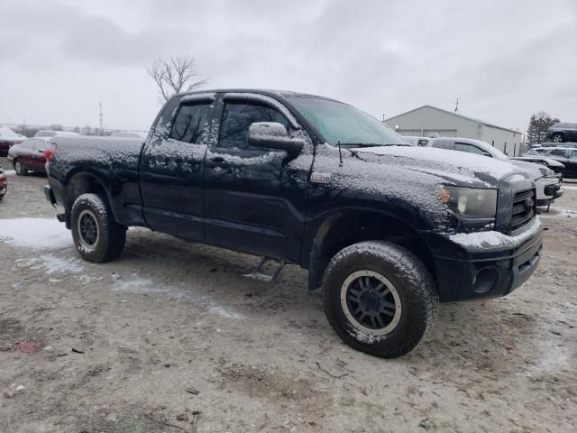
[[(362, 332), (347, 318), (341, 301), (344, 284), (354, 272), (376, 272), (398, 293), (398, 323), (387, 334)], [(383, 358), (406, 355), (424, 341), (435, 325), (438, 293), (431, 273), (414, 253), (382, 241), (353, 244), (336, 253), (323, 276), (325, 314), (343, 342)]]

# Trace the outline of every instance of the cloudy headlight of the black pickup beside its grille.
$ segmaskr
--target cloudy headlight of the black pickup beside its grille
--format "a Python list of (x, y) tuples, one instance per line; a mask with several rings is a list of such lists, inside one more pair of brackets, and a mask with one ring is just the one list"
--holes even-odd
[(441, 187), (437, 196), (454, 214), (463, 218), (494, 218), (497, 189)]

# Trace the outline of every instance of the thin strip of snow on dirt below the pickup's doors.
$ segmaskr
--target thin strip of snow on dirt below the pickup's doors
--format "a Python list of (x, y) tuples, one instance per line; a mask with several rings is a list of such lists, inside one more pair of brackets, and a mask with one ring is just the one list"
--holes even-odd
[(171, 286), (161, 286), (149, 278), (141, 278), (137, 274), (131, 275), (130, 280), (115, 280), (113, 283), (113, 291), (127, 291), (129, 293), (151, 293), (166, 295), (174, 299), (186, 299), (201, 309), (206, 309), (211, 313), (215, 313), (221, 318), (243, 318), (243, 315), (226, 309), (223, 306), (216, 304), (214, 300), (207, 299), (205, 296), (196, 297), (193, 293), (185, 290), (179, 290)]

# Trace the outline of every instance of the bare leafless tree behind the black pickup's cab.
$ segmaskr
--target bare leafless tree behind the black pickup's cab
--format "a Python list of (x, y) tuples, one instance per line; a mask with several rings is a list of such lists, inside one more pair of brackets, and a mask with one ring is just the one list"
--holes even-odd
[(159, 59), (152, 63), (146, 72), (159, 87), (163, 101), (168, 101), (175, 93), (201, 88), (208, 82), (207, 79), (195, 80), (198, 73), (193, 58)]

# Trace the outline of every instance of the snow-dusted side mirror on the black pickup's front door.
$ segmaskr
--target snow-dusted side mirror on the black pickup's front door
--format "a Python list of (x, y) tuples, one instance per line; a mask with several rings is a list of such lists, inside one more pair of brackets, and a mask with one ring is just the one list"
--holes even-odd
[(286, 151), (290, 156), (298, 155), (305, 146), (304, 141), (290, 138), (287, 128), (277, 122), (251, 124), (247, 142), (249, 146)]

